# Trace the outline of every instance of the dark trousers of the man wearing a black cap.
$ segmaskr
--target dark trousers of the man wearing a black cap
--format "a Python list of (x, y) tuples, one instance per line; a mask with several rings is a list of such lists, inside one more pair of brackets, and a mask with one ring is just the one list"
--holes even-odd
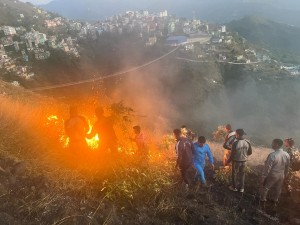
[(246, 162), (232, 163), (232, 186), (244, 189)]

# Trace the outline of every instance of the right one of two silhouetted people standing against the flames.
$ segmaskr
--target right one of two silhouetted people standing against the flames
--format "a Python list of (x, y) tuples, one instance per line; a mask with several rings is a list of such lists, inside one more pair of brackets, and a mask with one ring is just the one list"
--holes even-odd
[(94, 123), (91, 133), (87, 136), (93, 138), (96, 134), (99, 136), (99, 149), (110, 150), (112, 154), (118, 152), (118, 139), (114, 130), (114, 119), (104, 116), (104, 110), (101, 107), (95, 109), (97, 122)]

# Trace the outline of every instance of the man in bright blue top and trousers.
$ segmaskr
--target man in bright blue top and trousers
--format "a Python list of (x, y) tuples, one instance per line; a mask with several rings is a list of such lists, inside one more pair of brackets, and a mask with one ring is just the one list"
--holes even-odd
[(198, 142), (194, 143), (195, 152), (194, 152), (194, 165), (198, 172), (197, 178), (200, 177), (201, 183), (203, 185), (206, 185), (206, 179), (204, 175), (204, 167), (205, 167), (205, 161), (206, 157), (209, 159), (209, 163), (212, 167), (212, 170), (214, 170), (214, 158), (211, 153), (211, 150), (209, 148), (209, 145), (206, 144), (206, 138), (203, 136), (200, 136), (198, 138)]

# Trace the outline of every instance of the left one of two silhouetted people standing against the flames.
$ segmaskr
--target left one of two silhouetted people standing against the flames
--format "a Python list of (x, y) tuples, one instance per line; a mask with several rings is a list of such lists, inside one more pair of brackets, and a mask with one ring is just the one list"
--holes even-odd
[(70, 118), (65, 122), (65, 132), (69, 137), (69, 148), (72, 151), (88, 148), (85, 140), (89, 125), (83, 116), (78, 114), (75, 106), (70, 107)]

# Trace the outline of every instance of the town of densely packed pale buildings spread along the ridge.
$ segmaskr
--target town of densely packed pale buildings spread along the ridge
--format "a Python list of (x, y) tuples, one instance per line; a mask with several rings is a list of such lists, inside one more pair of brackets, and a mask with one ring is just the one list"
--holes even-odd
[[(246, 47), (246, 40), (228, 32), (225, 25), (209, 24), (195, 18), (176, 18), (166, 10), (159, 13), (127, 11), (95, 23), (56, 17), (37, 7), (34, 10), (33, 19), (46, 18), (42, 21), (44, 32), (36, 28), (35, 24), (31, 24), (30, 29), (10, 24), (0, 27), (0, 69), (27, 80), (35, 76), (30, 62), (47, 60), (53, 50), (79, 58), (78, 41), (96, 40), (105, 32), (120, 35), (135, 32), (145, 46), (181, 46), (179, 60), (232, 64), (272, 61), (264, 51)], [(25, 16), (20, 14), (18, 22), (24, 19)], [(62, 30), (67, 32), (61, 33)], [(291, 75), (300, 74), (299, 66), (276, 63)], [(18, 85), (18, 82), (14, 84)]]

